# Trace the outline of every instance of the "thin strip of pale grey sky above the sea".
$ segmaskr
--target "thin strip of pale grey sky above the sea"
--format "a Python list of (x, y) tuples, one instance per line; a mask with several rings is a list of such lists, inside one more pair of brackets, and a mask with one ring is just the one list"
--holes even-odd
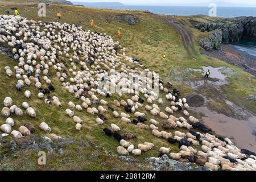
[(255, 0), (68, 0), (77, 2), (121, 2), (125, 5), (199, 5), (208, 6), (216, 3), (217, 6), (256, 6)]

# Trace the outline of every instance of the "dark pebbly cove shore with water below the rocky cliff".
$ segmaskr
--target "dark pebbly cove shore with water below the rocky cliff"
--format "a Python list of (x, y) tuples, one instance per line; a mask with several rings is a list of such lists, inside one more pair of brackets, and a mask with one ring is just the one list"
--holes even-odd
[(231, 44), (222, 44), (219, 50), (201, 51), (201, 54), (216, 57), (229, 64), (236, 65), (256, 78), (256, 56), (241, 51)]

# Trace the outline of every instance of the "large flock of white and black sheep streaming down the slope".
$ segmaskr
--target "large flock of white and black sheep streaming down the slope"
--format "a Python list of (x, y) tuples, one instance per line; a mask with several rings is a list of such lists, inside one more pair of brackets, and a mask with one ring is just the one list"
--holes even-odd
[[(169, 90), (172, 86), (170, 82), (164, 84), (154, 71), (145, 68), (138, 60), (126, 56), (125, 48), (120, 49), (118, 42), (114, 42), (106, 34), (86, 32), (74, 24), (36, 22), (21, 16), (1, 15), (0, 43), (11, 48), (17, 61), (18, 65), (13, 69), (5, 67), (6, 75), (15, 76), (18, 80), (15, 88), (23, 92), (24, 84), (34, 85), (39, 90), (38, 98), (44, 99), (45, 104), (61, 108), (59, 98), (49, 96), (55, 90), (51, 85), (49, 72), (55, 72), (65, 90), (81, 102), (81, 105), (75, 105), (69, 101), (69, 109), (65, 110), (67, 116), (72, 117), (76, 123), (76, 130), (82, 129), (83, 121), (74, 111), (85, 109), (88, 114), (97, 115), (95, 122), (98, 125), (105, 123), (104, 113), (110, 112), (113, 118), (126, 125), (137, 125), (141, 130), (151, 130), (152, 139), (158, 137), (172, 144), (179, 143), (177, 153), (171, 152), (171, 148), (159, 148), (160, 154), (168, 154), (172, 159), (188, 160), (213, 170), (256, 169), (256, 156), (253, 152), (240, 150), (228, 138), (210, 134), (210, 130), (199, 119), (189, 115), (189, 105), (185, 98), (179, 98), (179, 90)], [(126, 63), (135, 65), (135, 68)], [(143, 74), (151, 75), (152, 80), (142, 77)], [(129, 76), (138, 81), (131, 83)], [(115, 86), (120, 100), (109, 99), (113, 97), (112, 93), (105, 86), (101, 86), (103, 82)], [(131, 84), (133, 86), (129, 87)], [(152, 90), (154, 87), (159, 87), (165, 97), (158, 98), (159, 94)], [(31, 94), (30, 90), (24, 91), (27, 98)], [(131, 97), (123, 100), (123, 96)], [(165, 107), (164, 102), (168, 106)], [(11, 134), (14, 138), (22, 138), (34, 132), (35, 127), (30, 122), (20, 126), (19, 131), (12, 130), (15, 123), (11, 115), (22, 116), (23, 108), (27, 115), (36, 117), (35, 109), (27, 102), (23, 102), (20, 108), (14, 105), (10, 97), (6, 97), (3, 104), (1, 114), (7, 119), (0, 126), (2, 136)], [(123, 108), (124, 111), (118, 112), (113, 106)], [(181, 113), (183, 116), (177, 118), (172, 115), (174, 113)], [(151, 119), (147, 121), (146, 117)], [(40, 123), (39, 128), (51, 133), (51, 127), (46, 122)], [(177, 130), (179, 128), (187, 132), (182, 133)], [(129, 152), (141, 155), (155, 147), (154, 143), (148, 141), (134, 146), (132, 139), (136, 136), (130, 132), (121, 135), (121, 128), (115, 123), (111, 123), (103, 131), (118, 140), (120, 146), (117, 147), (117, 152), (122, 155), (128, 155)], [(53, 141), (60, 138), (53, 133), (49, 136)], [(197, 151), (193, 146), (200, 146), (201, 150)]]

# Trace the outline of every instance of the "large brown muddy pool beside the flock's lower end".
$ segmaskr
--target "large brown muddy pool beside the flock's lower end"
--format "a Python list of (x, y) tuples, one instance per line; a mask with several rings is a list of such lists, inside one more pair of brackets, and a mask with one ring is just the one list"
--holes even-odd
[(210, 111), (207, 107), (192, 107), (191, 109), (204, 113), (205, 117), (201, 121), (217, 134), (234, 138), (233, 141), (240, 148), (256, 152), (256, 137), (251, 134), (256, 129), (256, 116), (249, 118), (248, 121), (241, 121)]

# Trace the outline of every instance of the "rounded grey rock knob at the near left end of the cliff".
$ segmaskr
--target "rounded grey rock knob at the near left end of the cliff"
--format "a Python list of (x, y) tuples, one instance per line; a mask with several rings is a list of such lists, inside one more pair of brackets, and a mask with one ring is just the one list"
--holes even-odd
[(222, 42), (222, 32), (221, 30), (214, 30), (210, 32), (210, 35), (207, 38), (200, 40), (200, 46), (207, 51), (220, 48)]

